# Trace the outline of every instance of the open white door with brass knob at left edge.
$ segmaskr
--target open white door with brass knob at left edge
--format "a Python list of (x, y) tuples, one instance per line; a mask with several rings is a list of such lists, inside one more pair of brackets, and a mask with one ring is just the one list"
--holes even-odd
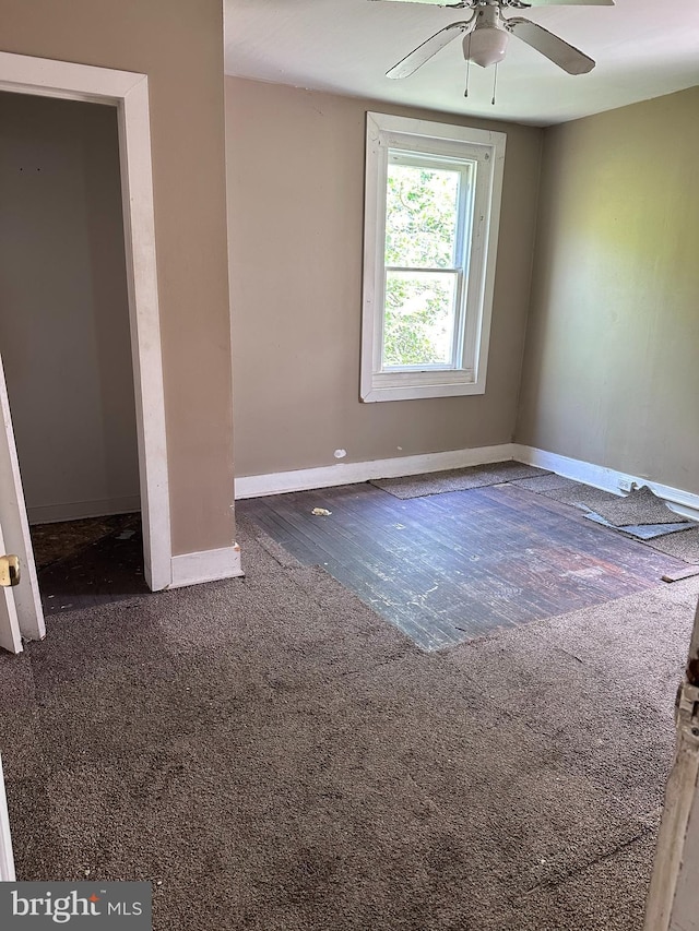
[(20, 653), (22, 637), (42, 640), (46, 628), (1, 359), (0, 410), (0, 554), (14, 553), (20, 560), (20, 584), (0, 588), (0, 647)]

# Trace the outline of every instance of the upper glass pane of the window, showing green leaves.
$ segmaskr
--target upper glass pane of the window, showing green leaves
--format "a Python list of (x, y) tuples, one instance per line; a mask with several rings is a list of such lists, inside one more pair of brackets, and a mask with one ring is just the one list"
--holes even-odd
[(453, 268), (461, 172), (415, 165), (388, 166), (386, 264)]

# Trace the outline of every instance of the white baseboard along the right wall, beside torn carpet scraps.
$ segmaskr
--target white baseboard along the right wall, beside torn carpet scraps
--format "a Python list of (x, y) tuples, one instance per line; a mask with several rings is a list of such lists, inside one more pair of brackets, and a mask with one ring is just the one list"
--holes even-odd
[(550, 469), (550, 472), (566, 478), (583, 481), (585, 485), (592, 485), (615, 494), (623, 493), (623, 485), (626, 485), (627, 488), (631, 484), (639, 487), (645, 485), (659, 498), (666, 501), (677, 514), (692, 521), (699, 521), (699, 494), (694, 494), (690, 491), (673, 488), (670, 485), (661, 485), (659, 481), (651, 481), (642, 476), (587, 463), (583, 459), (572, 459), (569, 456), (559, 456), (557, 453), (548, 453), (534, 446), (523, 446), (520, 443), (514, 444), (513, 458), (540, 468)]

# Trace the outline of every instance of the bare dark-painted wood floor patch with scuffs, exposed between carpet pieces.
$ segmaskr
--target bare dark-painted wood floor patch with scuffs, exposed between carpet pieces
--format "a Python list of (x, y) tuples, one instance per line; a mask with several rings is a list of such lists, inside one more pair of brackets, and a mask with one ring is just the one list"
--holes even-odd
[(236, 509), (426, 650), (631, 595), (684, 565), (510, 485), (410, 500), (353, 485)]

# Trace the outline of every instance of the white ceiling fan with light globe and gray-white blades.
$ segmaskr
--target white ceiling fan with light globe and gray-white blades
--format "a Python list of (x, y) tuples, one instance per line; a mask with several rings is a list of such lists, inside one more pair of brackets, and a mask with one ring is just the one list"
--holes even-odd
[(425, 62), (437, 55), (446, 45), (463, 36), (463, 53), (466, 61), (482, 68), (497, 64), (505, 58), (509, 37), (536, 49), (568, 74), (587, 74), (595, 63), (579, 49), (549, 33), (538, 23), (522, 16), (503, 16), (503, 10), (525, 10), (529, 7), (614, 7), (614, 0), (460, 0), (445, 3), (443, 0), (399, 0), (399, 2), (431, 3), (452, 10), (472, 10), (469, 20), (451, 23), (424, 41), (410, 55), (387, 72), (387, 77), (408, 77)]

